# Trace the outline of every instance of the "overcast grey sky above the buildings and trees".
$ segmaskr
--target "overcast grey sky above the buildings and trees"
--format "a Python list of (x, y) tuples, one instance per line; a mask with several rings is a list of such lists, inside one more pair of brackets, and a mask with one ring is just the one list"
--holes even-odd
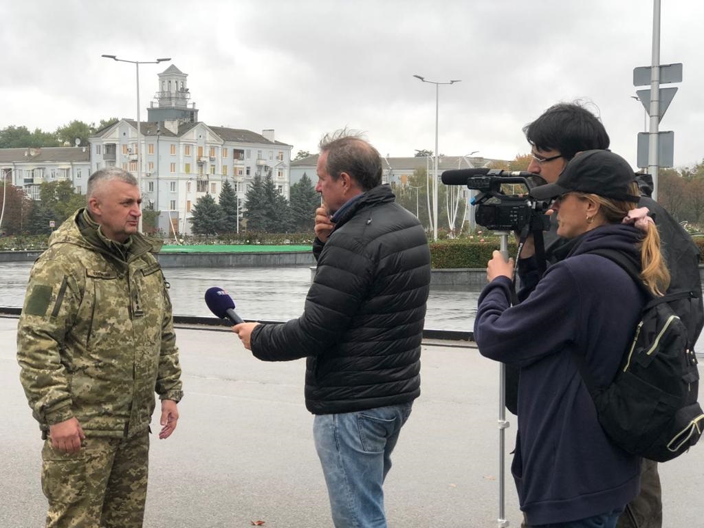
[[(674, 162), (704, 158), (704, 2), (662, 0), (660, 63), (684, 82), (660, 122)], [(261, 132), (315, 152), (339, 127), (382, 154), (434, 149), (512, 159), (521, 128), (548, 106), (593, 108), (612, 150), (636, 164), (644, 110), (633, 69), (649, 66), (652, 0), (4, 1), (0, 128), (55, 130), (79, 119), (136, 118), (134, 65), (171, 57), (208, 125)], [(169, 63), (139, 69), (142, 119)]]

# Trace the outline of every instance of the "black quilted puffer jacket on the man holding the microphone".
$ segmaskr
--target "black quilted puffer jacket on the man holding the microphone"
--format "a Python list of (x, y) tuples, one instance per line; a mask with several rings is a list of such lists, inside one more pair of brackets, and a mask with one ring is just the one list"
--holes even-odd
[(425, 231), (379, 185), (346, 211), (322, 247), (303, 315), (257, 326), (252, 352), (268, 361), (308, 357), (313, 414), (413, 401), (429, 285)]

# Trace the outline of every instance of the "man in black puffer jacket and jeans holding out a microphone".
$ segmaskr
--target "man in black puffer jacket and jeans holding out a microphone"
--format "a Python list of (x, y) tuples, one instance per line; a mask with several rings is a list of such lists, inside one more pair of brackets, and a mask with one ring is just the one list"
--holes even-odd
[[(335, 527), (386, 527), (382, 484), (420, 395), (430, 252), (382, 182), (377, 150), (346, 131), (320, 142), (315, 281), (300, 318), (233, 329), (265, 361), (308, 358), (306, 407)], [(332, 216), (328, 216), (332, 215)]]

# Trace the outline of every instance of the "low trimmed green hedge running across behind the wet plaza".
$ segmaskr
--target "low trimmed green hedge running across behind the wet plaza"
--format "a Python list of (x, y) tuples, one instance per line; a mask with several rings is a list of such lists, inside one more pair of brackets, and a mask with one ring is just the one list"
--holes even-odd
[[(16, 236), (0, 238), (0, 251), (37, 251), (46, 249), (46, 235)], [(701, 253), (700, 262), (704, 264), (704, 236), (693, 237)], [(310, 245), (313, 239), (310, 233), (239, 233), (213, 237), (184, 237), (184, 244), (294, 244)], [(429, 242), (431, 264), (434, 269), (452, 268), (486, 268), (491, 253), (501, 246), (498, 237), (462, 238)], [(509, 238), (508, 253), (515, 255), (516, 245)]]

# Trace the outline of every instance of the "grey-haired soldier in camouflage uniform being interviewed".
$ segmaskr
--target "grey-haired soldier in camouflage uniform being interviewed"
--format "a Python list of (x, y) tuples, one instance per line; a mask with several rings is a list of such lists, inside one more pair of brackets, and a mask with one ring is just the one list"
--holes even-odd
[(162, 439), (182, 398), (171, 303), (160, 245), (137, 231), (137, 180), (99, 170), (87, 200), (32, 268), (20, 379), (45, 440), (46, 527), (141, 527), (154, 393)]

